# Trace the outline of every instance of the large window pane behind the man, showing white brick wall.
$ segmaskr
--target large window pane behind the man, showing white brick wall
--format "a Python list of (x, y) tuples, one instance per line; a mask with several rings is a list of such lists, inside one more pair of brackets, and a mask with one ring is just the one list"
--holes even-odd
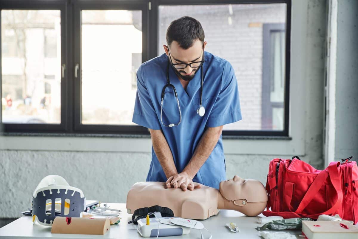
[[(166, 29), (171, 21), (185, 15), (192, 16), (200, 21), (205, 31), (205, 40), (208, 42), (205, 51), (227, 59), (233, 66), (238, 81), (242, 120), (224, 125), (224, 130), (275, 130), (284, 129), (283, 100), (285, 93), (285, 23), (286, 4), (218, 4), (218, 5), (160, 5), (159, 6), (159, 40), (158, 54), (164, 53)], [(282, 26), (280, 32), (272, 35), (272, 44), (275, 51), (280, 53), (279, 58), (271, 57), (267, 63), (268, 71), (274, 69), (275, 79), (281, 80), (278, 87), (276, 80), (272, 80), (274, 92), (271, 94), (272, 104), (266, 105), (263, 85), (271, 78), (265, 77), (263, 62), (263, 46), (265, 23), (277, 23)], [(276, 39), (281, 40), (279, 42)], [(274, 52), (276, 54), (276, 52)], [(266, 60), (266, 58), (265, 58)], [(278, 78), (280, 76), (280, 78)], [(274, 99), (274, 97), (276, 97)], [(270, 99), (269, 99), (270, 100)], [(279, 101), (277, 101), (279, 100)], [(280, 103), (280, 107), (276, 103)], [(267, 127), (272, 121), (262, 114), (267, 107), (271, 107), (271, 115), (276, 127)]]

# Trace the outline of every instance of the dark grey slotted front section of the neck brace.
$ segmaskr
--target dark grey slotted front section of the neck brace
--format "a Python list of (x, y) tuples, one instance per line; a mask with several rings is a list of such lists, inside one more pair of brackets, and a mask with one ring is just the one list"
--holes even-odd
[[(52, 194), (50, 194), (50, 190), (40, 191), (37, 193), (37, 196), (32, 199), (32, 216), (36, 215), (38, 220), (42, 223), (51, 224), (51, 221), (55, 219), (55, 199), (61, 198), (61, 215), (64, 217), (74, 217), (79, 218), (80, 213), (86, 209), (86, 198), (81, 198), (81, 194), (77, 191), (67, 190), (67, 194), (65, 194), (66, 189), (51, 189)], [(57, 193), (59, 191), (59, 193)], [(43, 192), (45, 196), (43, 196)], [(72, 193), (74, 192), (73, 196)], [(52, 200), (52, 208), (51, 215), (46, 215), (46, 200)], [(65, 199), (70, 200), (69, 214), (64, 215), (64, 202)]]

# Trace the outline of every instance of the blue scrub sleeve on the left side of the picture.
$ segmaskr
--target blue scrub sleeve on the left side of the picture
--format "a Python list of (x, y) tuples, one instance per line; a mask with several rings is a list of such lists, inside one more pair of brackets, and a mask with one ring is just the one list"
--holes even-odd
[(145, 86), (142, 66), (137, 71), (137, 95), (132, 122), (149, 129), (161, 129), (158, 116)]

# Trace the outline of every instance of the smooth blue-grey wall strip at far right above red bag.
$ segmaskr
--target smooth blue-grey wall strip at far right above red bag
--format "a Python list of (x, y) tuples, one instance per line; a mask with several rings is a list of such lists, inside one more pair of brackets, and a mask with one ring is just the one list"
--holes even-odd
[[(335, 95), (335, 158), (358, 157), (358, 1), (339, 0)], [(353, 158), (354, 159), (354, 158)]]

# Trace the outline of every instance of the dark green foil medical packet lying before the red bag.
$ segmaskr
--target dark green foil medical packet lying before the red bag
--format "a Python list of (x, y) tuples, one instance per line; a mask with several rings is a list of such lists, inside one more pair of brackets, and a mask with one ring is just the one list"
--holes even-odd
[(283, 220), (270, 221), (263, 226), (258, 226), (256, 230), (290, 230), (290, 229), (302, 229), (302, 221), (313, 221), (310, 218), (289, 218)]

